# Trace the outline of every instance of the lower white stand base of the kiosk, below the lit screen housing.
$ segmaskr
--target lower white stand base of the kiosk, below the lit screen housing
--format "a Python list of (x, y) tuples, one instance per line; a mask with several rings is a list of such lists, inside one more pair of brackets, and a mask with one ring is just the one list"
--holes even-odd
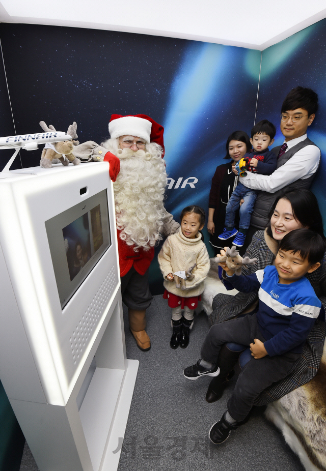
[(99, 335), (96, 368), (79, 410), (77, 397), (94, 364), (93, 351), (65, 406), (10, 400), (40, 471), (118, 468), (139, 361), (125, 358), (120, 289), (115, 301)]

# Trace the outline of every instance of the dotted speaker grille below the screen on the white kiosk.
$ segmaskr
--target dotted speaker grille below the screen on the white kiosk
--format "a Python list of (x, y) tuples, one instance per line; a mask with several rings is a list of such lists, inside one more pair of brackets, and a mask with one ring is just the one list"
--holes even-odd
[(110, 272), (106, 275), (96, 295), (76, 325), (70, 337), (71, 354), (74, 364), (87, 347), (99, 320), (102, 317), (104, 309), (111, 298), (111, 295), (117, 286), (115, 267), (112, 266)]

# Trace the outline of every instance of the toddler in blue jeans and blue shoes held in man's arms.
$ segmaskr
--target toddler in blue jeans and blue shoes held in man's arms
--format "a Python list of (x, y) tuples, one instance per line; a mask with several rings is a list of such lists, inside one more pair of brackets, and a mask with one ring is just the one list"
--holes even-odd
[[(276, 129), (273, 123), (262, 120), (251, 130), (251, 139), (253, 149), (244, 154), (244, 159), (248, 161), (248, 171), (262, 175), (270, 175), (276, 170), (277, 156), (268, 150), (269, 145), (273, 145)], [(219, 239), (226, 241), (234, 237), (233, 244), (242, 247), (246, 234), (250, 226), (251, 214), (254, 210), (257, 198), (257, 190), (247, 188), (242, 183), (238, 183), (233, 191), (226, 207), (225, 227)], [(240, 207), (239, 231), (234, 227), (235, 212), (239, 208), (241, 199), (244, 200)]]

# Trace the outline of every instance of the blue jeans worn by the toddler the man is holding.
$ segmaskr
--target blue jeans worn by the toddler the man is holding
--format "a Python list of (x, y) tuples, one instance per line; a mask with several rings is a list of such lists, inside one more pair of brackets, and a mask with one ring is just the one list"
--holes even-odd
[(235, 212), (240, 206), (240, 200), (244, 199), (244, 203), (240, 206), (239, 229), (249, 229), (251, 213), (254, 211), (256, 198), (256, 190), (251, 190), (242, 185), (242, 183), (238, 183), (226, 207), (226, 227), (234, 227)]

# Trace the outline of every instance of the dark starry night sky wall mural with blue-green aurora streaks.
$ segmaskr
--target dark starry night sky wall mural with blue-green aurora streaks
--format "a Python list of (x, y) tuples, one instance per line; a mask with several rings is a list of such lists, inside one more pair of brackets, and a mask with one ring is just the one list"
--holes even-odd
[[(178, 215), (196, 203), (208, 210), (210, 182), (224, 163), (227, 136), (250, 134), (254, 124), (260, 51), (157, 36), (82, 28), (0, 24), (0, 136), (34, 133), (39, 121), (66, 131), (77, 122), (80, 142), (108, 137), (112, 113), (150, 115), (165, 127), (169, 174), (167, 209)], [(326, 20), (262, 54), (257, 120), (279, 129), (286, 93), (300, 84), (319, 94), (320, 111), (310, 137), (326, 152)], [(12, 112), (11, 112), (12, 108)], [(14, 127), (15, 126), (15, 127)], [(276, 143), (282, 137), (278, 132)], [(2, 167), (8, 160), (2, 151)], [(41, 149), (21, 151), (16, 167), (39, 164)], [(87, 164), (85, 164), (87, 165)], [(321, 165), (314, 191), (323, 205)], [(323, 206), (322, 206), (323, 207)], [(326, 205), (323, 208), (326, 217)], [(208, 244), (208, 234), (205, 233)], [(212, 252), (211, 252), (212, 253)], [(153, 293), (161, 290), (156, 262)]]

